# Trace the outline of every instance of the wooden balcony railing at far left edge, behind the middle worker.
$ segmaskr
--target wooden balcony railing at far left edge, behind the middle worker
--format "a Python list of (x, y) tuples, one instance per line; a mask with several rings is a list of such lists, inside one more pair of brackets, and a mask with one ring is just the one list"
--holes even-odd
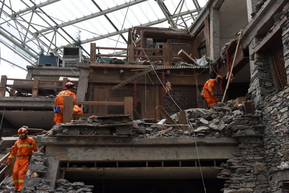
[[(20, 84), (7, 84), (7, 80), (20, 81)], [(24, 82), (33, 82), (33, 84), (27, 85)], [(62, 82), (62, 86), (40, 86), (39, 82)], [(63, 78), (63, 80), (40, 80), (39, 77), (34, 77), (34, 80), (31, 79), (15, 79), (15, 78), (7, 78), (6, 75), (1, 76), (0, 82), (0, 97), (5, 96), (5, 92), (9, 93), (9, 96), (14, 96), (17, 87), (25, 87), (32, 94), (32, 97), (38, 96), (39, 89), (63, 89), (66, 90), (65, 84), (68, 82), (68, 78)], [(78, 82), (74, 80), (70, 80), (70, 82)]]

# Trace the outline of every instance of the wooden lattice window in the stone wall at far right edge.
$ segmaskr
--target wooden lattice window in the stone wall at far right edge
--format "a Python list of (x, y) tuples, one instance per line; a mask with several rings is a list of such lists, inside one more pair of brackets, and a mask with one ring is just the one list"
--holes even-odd
[(277, 79), (280, 81), (281, 88), (287, 85), (287, 76), (285, 70), (285, 62), (283, 57), (283, 45), (280, 43), (275, 49), (272, 50), (272, 61), (275, 64), (277, 71)]

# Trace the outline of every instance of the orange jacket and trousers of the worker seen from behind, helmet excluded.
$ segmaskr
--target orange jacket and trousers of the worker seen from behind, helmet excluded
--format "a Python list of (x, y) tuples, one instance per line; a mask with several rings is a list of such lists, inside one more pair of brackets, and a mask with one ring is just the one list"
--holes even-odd
[(61, 107), (61, 111), (59, 113), (55, 113), (54, 115), (54, 122), (56, 124), (63, 122), (63, 103), (64, 103), (64, 96), (73, 96), (73, 101), (76, 101), (76, 95), (71, 92), (70, 90), (64, 90), (58, 93), (57, 97), (55, 98), (56, 107)]

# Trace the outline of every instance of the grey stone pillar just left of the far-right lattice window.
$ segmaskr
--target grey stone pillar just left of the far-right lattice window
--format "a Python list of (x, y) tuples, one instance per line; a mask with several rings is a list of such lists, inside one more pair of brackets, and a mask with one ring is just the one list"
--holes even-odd
[(269, 57), (265, 54), (255, 54), (254, 69), (250, 80), (250, 88), (246, 98), (257, 105), (269, 94), (275, 92)]

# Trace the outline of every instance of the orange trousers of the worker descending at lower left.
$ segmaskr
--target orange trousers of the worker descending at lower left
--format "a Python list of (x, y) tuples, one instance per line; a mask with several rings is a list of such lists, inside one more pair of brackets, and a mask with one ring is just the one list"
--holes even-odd
[(20, 191), (21, 188), (23, 187), (23, 182), (26, 176), (26, 172), (28, 170), (28, 166), (29, 166), (29, 158), (27, 156), (25, 156), (25, 158), (17, 157), (13, 168), (12, 179), (15, 188), (16, 189), (18, 188), (18, 191)]

